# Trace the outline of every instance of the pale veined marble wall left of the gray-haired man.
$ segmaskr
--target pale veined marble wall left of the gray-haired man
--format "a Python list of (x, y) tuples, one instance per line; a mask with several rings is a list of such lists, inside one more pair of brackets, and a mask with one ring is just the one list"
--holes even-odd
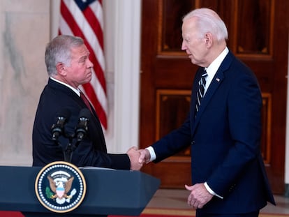
[(0, 1), (0, 165), (31, 165), (31, 130), (47, 73), (50, 1)]

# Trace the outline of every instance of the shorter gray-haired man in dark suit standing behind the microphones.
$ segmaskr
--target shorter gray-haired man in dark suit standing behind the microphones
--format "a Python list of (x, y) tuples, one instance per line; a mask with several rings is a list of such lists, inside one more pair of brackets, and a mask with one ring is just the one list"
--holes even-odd
[[(68, 160), (77, 167), (106, 167), (116, 170), (140, 170), (140, 153), (134, 147), (126, 154), (108, 154), (103, 130), (93, 107), (81, 98), (79, 87), (90, 82), (89, 50), (82, 38), (57, 36), (47, 44), (45, 63), (49, 79), (41, 93), (33, 128), (33, 165), (43, 167), (54, 161)], [(66, 146), (71, 142), (66, 135), (73, 135), (84, 108), (89, 112), (86, 136), (75, 147), (73, 155), (66, 156)], [(88, 110), (89, 109), (89, 110)], [(52, 139), (52, 126), (59, 111), (67, 110), (69, 120), (64, 132), (57, 135), (59, 145)], [(64, 112), (65, 113), (65, 112)], [(65, 134), (65, 135), (64, 135)], [(73, 142), (76, 138), (73, 137)], [(25, 213), (24, 216), (82, 216), (77, 214)]]

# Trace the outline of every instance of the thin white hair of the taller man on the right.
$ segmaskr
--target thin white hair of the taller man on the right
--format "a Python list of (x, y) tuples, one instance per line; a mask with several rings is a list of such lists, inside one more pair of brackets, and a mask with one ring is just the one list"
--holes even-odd
[(198, 17), (196, 20), (196, 27), (198, 28), (200, 37), (204, 36), (205, 33), (210, 32), (218, 41), (228, 39), (227, 27), (225, 27), (225, 23), (214, 10), (209, 8), (192, 10), (184, 16), (183, 22), (192, 17)]

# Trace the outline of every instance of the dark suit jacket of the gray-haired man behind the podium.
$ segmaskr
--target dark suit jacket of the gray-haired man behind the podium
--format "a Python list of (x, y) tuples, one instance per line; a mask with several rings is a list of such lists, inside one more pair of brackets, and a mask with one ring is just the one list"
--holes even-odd
[[(48, 80), (41, 93), (33, 128), (33, 165), (44, 166), (57, 160), (64, 160), (63, 149), (68, 139), (59, 137), (61, 147), (52, 141), (51, 127), (56, 122), (57, 113), (64, 108), (71, 111), (71, 117), (65, 125), (65, 132), (72, 134), (79, 119), (80, 110), (86, 105), (71, 89)], [(75, 140), (73, 140), (75, 142)], [(129, 170), (131, 167), (127, 154), (108, 154), (105, 137), (97, 115), (91, 115), (89, 133), (73, 152), (72, 162), (77, 167), (94, 166)]]

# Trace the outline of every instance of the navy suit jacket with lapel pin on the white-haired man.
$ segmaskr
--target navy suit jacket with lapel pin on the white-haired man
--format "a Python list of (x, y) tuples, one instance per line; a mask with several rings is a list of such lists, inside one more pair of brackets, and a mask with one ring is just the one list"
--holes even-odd
[(184, 124), (152, 145), (155, 162), (191, 145), (192, 184), (207, 181), (218, 195), (199, 211), (239, 214), (275, 204), (260, 154), (262, 96), (244, 63), (227, 54), (195, 117), (199, 68)]

